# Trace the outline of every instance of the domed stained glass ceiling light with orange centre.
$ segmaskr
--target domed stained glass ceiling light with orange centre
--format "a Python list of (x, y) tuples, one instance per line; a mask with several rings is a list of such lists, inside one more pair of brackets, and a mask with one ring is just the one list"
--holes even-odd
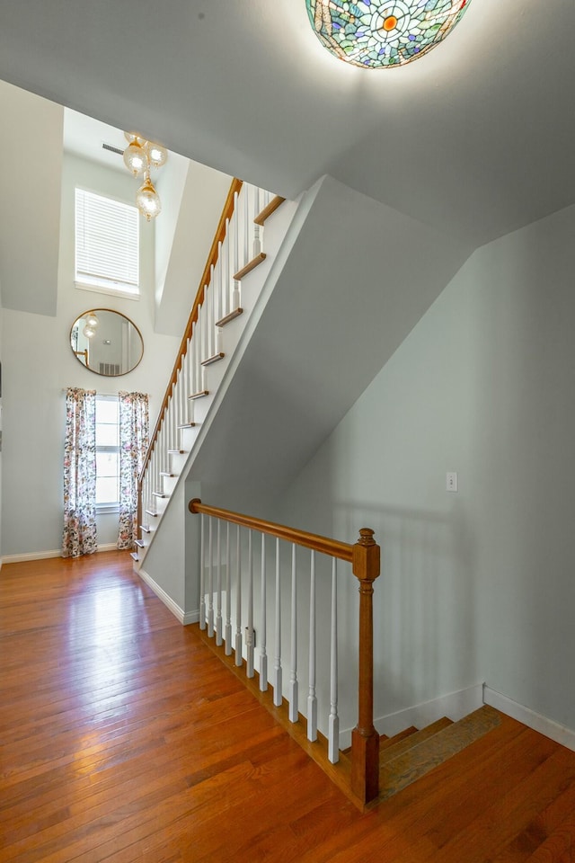
[(443, 41), (471, 0), (305, 0), (315, 35), (364, 69), (405, 66)]

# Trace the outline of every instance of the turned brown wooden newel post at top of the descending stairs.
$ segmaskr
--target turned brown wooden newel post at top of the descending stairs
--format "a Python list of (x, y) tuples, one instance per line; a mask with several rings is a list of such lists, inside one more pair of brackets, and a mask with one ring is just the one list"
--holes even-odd
[(379, 794), (379, 734), (374, 725), (374, 582), (379, 546), (374, 531), (359, 530), (353, 547), (353, 574), (359, 582), (358, 725), (351, 734), (351, 790), (362, 803)]

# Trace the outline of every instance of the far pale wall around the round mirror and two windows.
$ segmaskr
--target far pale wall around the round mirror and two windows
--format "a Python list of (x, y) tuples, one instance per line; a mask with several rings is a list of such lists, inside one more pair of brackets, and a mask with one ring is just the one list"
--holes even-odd
[[(135, 182), (126, 173), (66, 156), (62, 177), (61, 234), (57, 315), (4, 309), (2, 324), (4, 476), (4, 556), (55, 551), (61, 545), (62, 458), (65, 387), (102, 393), (120, 389), (150, 395), (155, 423), (180, 337), (154, 332), (154, 228), (142, 220), (143, 297), (115, 298), (74, 285), (74, 185), (132, 202)], [(33, 250), (31, 250), (33, 254)], [(75, 318), (85, 309), (105, 307), (128, 316), (144, 338), (137, 369), (118, 378), (102, 378), (75, 359), (69, 341)], [(113, 542), (117, 517), (99, 519), (99, 541)]]

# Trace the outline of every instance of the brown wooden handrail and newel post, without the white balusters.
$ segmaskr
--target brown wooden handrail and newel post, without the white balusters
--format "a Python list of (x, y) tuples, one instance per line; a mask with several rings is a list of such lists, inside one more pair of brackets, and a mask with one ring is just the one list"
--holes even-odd
[(360, 529), (358, 542), (349, 545), (273, 521), (209, 506), (197, 497), (190, 501), (188, 509), (351, 563), (359, 582), (358, 725), (351, 734), (351, 793), (362, 807), (375, 800), (379, 795), (379, 734), (374, 725), (373, 594), (374, 582), (380, 571), (380, 549), (374, 539), (374, 531)]

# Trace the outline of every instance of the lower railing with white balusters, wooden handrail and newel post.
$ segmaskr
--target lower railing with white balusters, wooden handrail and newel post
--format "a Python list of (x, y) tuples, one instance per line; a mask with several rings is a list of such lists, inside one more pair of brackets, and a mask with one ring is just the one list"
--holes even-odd
[[(199, 628), (208, 630), (208, 636), (221, 645), (228, 656), (235, 654), (236, 666), (244, 666), (246, 676), (255, 674), (254, 651), (254, 541), (260, 535), (261, 582), (259, 589), (259, 619), (257, 627), (259, 646), (260, 690), (268, 689), (269, 676), (273, 687), (273, 704), (282, 706), (282, 672), (288, 664), (288, 716), (292, 723), (299, 718), (298, 704), (298, 645), (297, 645), (297, 579), (296, 548), (310, 549), (309, 574), (309, 650), (308, 695), (306, 700), (307, 739), (317, 739), (317, 631), (315, 614), (316, 576), (315, 555), (321, 553), (332, 560), (331, 627), (330, 627), (330, 714), (328, 716), (328, 759), (339, 761), (338, 716), (338, 621), (337, 621), (337, 561), (347, 561), (359, 583), (358, 623), (358, 723), (351, 735), (350, 790), (361, 805), (374, 800), (379, 793), (379, 735), (373, 721), (373, 583), (379, 575), (380, 549), (374, 532), (359, 530), (355, 545), (339, 542), (304, 530), (288, 528), (271, 521), (255, 519), (238, 512), (208, 506), (197, 498), (189, 503), (190, 512), (200, 513), (200, 571), (199, 571)], [(235, 536), (230, 526), (235, 525)], [(241, 529), (248, 530), (247, 562), (242, 553)], [(254, 540), (254, 537), (256, 538)], [(276, 540), (274, 574), (270, 578), (274, 595), (273, 619), (268, 619), (268, 561), (266, 537)], [(281, 605), (280, 541), (291, 545), (290, 608), (286, 613)], [(244, 568), (244, 563), (246, 563)], [(234, 608), (232, 604), (234, 602)], [(282, 627), (290, 632), (288, 663), (281, 654)], [(273, 631), (273, 669), (268, 674), (268, 631)], [(245, 633), (245, 635), (243, 635)], [(243, 659), (245, 654), (245, 659)]]

